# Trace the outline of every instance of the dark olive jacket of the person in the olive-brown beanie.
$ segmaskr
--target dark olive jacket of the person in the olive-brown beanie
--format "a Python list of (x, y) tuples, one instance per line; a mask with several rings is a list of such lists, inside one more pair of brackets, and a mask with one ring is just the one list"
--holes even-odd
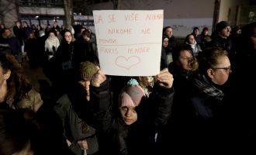
[(81, 155), (84, 150), (81, 150), (81, 147), (78, 146), (78, 140), (87, 140), (88, 150), (86, 152), (87, 154), (94, 154), (99, 150), (95, 129), (78, 117), (71, 103), (75, 102), (74, 100), (71, 101), (73, 97), (67, 94), (61, 96), (57, 100), (57, 105), (54, 106), (54, 111), (60, 116), (64, 127), (64, 137), (72, 143), (70, 146), (72, 152)]

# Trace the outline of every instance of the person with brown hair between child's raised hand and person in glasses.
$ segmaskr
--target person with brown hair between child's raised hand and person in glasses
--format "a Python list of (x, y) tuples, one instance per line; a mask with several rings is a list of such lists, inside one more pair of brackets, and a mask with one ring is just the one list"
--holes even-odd
[(198, 61), (193, 56), (192, 51), (185, 48), (179, 50), (174, 61), (168, 65), (168, 70), (175, 79), (173, 82), (175, 95), (171, 108), (171, 118), (168, 120), (166, 128), (159, 134), (159, 146), (163, 154), (170, 151), (169, 146), (173, 146), (173, 148), (182, 146), (188, 129), (185, 122), (190, 116), (189, 112), (191, 112), (189, 98), (192, 95), (192, 79), (198, 67)]

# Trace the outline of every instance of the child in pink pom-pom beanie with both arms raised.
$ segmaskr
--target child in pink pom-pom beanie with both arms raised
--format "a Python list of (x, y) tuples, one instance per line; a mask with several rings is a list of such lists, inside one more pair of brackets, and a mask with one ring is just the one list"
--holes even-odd
[(109, 79), (99, 70), (90, 85), (99, 152), (106, 154), (157, 154), (156, 135), (171, 115), (174, 91), (168, 69), (160, 71), (149, 97), (135, 79), (119, 93), (119, 112), (113, 111)]

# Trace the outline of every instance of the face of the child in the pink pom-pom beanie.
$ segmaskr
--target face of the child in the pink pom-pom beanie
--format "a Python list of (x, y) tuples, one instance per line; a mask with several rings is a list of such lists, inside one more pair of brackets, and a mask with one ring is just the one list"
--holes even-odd
[(120, 107), (120, 113), (123, 121), (126, 125), (131, 125), (133, 122), (136, 122), (138, 119), (137, 112), (135, 111), (135, 107), (133, 106), (123, 106)]

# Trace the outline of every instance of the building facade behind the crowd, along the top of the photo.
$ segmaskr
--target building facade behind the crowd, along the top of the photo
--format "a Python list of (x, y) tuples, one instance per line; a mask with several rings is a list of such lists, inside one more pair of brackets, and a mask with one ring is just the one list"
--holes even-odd
[[(207, 26), (211, 31), (217, 22), (227, 20), (233, 26), (245, 25), (254, 20), (255, 5), (251, 0), (120, 0), (123, 10), (164, 10), (164, 26), (172, 26), (175, 36), (192, 33), (194, 26)], [(193, 3), (193, 5), (192, 5)], [(110, 0), (73, 0), (73, 23), (93, 30), (92, 10), (114, 9)], [(249, 18), (248, 15), (251, 15)], [(11, 27), (17, 20), (29, 25), (64, 25), (63, 0), (2, 0), (1, 23)]]

